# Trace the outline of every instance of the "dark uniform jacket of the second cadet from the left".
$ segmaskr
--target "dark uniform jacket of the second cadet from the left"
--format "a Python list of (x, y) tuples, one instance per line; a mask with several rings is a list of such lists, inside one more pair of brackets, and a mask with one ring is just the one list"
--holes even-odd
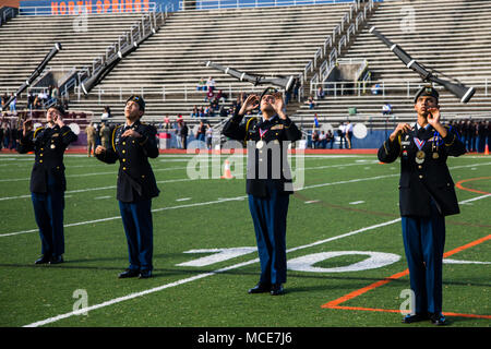
[[(142, 137), (121, 136), (124, 131), (132, 129)], [(157, 130), (153, 125), (135, 121), (131, 127), (117, 127), (111, 136), (111, 147), (97, 158), (107, 164), (119, 160), (117, 200), (133, 203), (158, 196), (159, 190), (148, 157), (158, 156), (155, 140)]]

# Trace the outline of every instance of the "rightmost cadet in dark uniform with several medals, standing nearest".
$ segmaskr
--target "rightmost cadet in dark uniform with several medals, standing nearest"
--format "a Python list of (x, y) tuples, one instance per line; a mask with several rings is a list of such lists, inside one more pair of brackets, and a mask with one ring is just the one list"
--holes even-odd
[(444, 217), (459, 213), (446, 158), (463, 155), (466, 148), (455, 130), (440, 123), (439, 94), (433, 87), (418, 92), (415, 110), (416, 124), (399, 123), (380, 147), (379, 160), (393, 163), (400, 157), (403, 239), (416, 297), (415, 314), (406, 315), (403, 322), (431, 320), (443, 325)]

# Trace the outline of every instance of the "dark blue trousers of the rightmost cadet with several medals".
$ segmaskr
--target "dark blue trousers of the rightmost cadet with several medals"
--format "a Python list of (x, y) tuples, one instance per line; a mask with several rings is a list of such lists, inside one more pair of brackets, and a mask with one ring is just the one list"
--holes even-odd
[(403, 239), (416, 313), (442, 312), (445, 218), (431, 205), (431, 217), (403, 217)]

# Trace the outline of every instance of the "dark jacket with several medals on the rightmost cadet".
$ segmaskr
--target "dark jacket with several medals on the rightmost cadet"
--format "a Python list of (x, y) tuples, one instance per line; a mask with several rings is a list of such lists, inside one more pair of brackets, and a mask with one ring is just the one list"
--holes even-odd
[[(382, 163), (393, 163), (400, 157), (400, 215), (428, 217), (431, 200), (443, 216), (458, 214), (458, 202), (446, 159), (448, 156), (465, 154), (465, 145), (452, 128), (446, 128), (447, 135), (444, 139), (431, 125), (417, 129), (415, 125), (394, 142), (385, 141), (378, 154)], [(420, 151), (423, 153), (418, 154)]]

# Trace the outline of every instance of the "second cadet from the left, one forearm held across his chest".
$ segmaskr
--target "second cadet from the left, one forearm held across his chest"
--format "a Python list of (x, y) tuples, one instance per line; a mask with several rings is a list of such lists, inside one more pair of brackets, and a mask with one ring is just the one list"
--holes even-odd
[(153, 270), (152, 197), (158, 196), (159, 190), (148, 157), (156, 158), (158, 147), (157, 130), (140, 122), (144, 112), (143, 98), (131, 96), (124, 108), (127, 122), (112, 132), (111, 147), (96, 148), (99, 160), (119, 160), (117, 198), (130, 256), (130, 266), (120, 278), (148, 278)]

